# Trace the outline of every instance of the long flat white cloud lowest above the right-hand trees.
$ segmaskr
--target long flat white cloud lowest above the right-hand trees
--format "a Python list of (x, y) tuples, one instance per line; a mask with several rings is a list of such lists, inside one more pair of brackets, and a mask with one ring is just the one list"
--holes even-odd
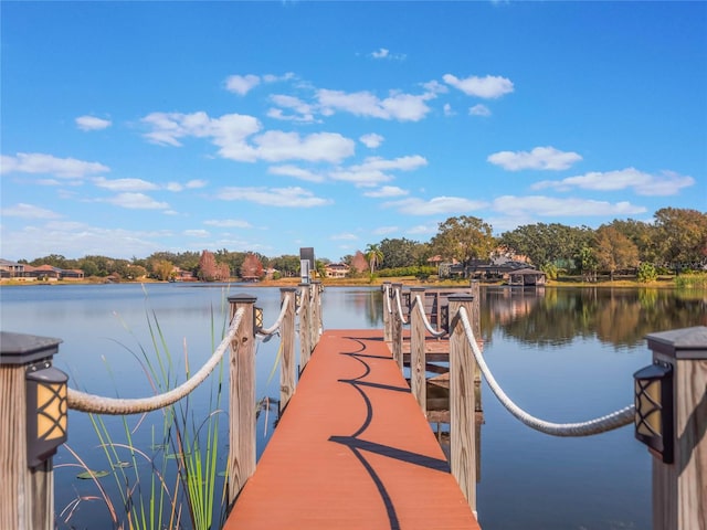
[(514, 216), (635, 215), (646, 211), (627, 201), (611, 203), (589, 199), (556, 199), (545, 195), (504, 195), (494, 200), (493, 209)]

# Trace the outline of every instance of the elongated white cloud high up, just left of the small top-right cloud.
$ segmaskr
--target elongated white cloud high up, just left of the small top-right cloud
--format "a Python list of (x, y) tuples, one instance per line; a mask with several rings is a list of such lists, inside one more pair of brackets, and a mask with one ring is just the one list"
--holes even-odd
[(430, 112), (430, 107), (424, 102), (436, 96), (432, 93), (422, 95), (392, 93), (389, 97), (379, 99), (370, 92), (317, 91), (317, 98), (325, 116), (341, 110), (355, 116), (400, 121), (419, 121), (424, 118)]

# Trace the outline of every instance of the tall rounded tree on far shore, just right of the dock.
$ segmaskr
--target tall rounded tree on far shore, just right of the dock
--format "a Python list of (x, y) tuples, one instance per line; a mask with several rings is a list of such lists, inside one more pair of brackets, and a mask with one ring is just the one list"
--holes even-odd
[(430, 244), (435, 254), (468, 265), (472, 259), (487, 259), (496, 243), (490, 224), (478, 218), (462, 215), (440, 223), (437, 234)]

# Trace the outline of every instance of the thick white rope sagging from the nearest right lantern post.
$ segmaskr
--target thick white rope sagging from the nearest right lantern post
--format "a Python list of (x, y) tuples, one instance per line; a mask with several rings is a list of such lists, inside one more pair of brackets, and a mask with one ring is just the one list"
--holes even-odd
[(490, 373), (490, 370), (484, 360), (484, 356), (476, 343), (476, 339), (474, 338), (474, 332), (472, 331), (466, 309), (464, 307), (460, 307), (458, 315), (462, 319), (462, 324), (464, 325), (466, 339), (472, 347), (472, 351), (474, 351), (474, 358), (476, 359), (484, 378), (486, 378), (488, 386), (490, 386), (490, 390), (506, 410), (530, 428), (535, 428), (536, 431), (545, 434), (551, 434), (552, 436), (590, 436), (592, 434), (604, 433), (633, 423), (635, 414), (634, 405), (629, 405), (605, 416), (581, 423), (550, 423), (528, 414), (506, 395), (500, 385), (496, 382), (496, 379), (494, 379), (494, 375)]

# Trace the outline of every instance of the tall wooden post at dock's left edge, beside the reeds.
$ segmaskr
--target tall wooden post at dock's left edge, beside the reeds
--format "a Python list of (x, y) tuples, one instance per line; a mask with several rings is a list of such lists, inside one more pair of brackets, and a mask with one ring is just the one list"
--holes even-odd
[(244, 308), (241, 325), (231, 341), (229, 504), (233, 504), (255, 473), (255, 312), (256, 297), (229, 296), (231, 321)]

